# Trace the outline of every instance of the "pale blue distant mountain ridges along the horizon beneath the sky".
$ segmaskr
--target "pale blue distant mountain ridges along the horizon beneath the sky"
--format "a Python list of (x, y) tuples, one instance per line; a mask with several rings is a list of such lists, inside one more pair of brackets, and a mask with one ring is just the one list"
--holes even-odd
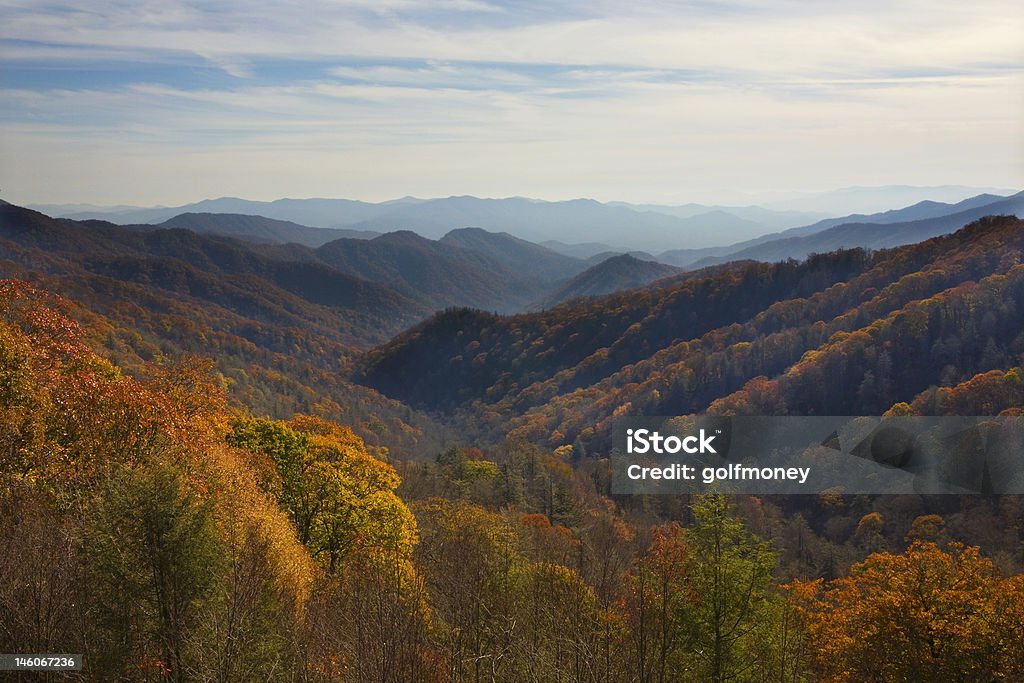
[[(270, 241), (292, 241), (318, 247), (332, 239), (369, 239), (383, 232), (411, 230), (437, 240), (453, 229), (478, 227), (489, 232), (506, 232), (520, 240), (541, 243), (568, 256), (589, 258), (603, 252), (645, 251), (658, 254), (657, 260), (689, 266), (698, 262), (721, 262), (763, 242), (819, 232), (840, 223), (894, 223), (952, 214), (998, 199), (997, 195), (969, 195), (971, 188), (943, 186), (847, 188), (831, 195), (816, 195), (820, 206), (861, 207), (885, 204), (897, 198), (932, 197), (901, 210), (879, 213), (846, 212), (829, 218), (820, 210), (767, 208), (765, 206), (680, 206), (634, 205), (623, 202), (602, 204), (593, 200), (545, 202), (524, 198), (480, 199), (450, 197), (421, 200), (402, 198), (377, 204), (341, 199), (282, 199), (254, 202), (237, 198), (204, 200), (180, 207), (113, 207), (84, 205), (36, 207), (55, 216), (120, 224), (171, 224), (197, 231), (247, 234)], [(931, 191), (931, 195), (928, 193)], [(934, 198), (968, 197), (947, 204)], [(827, 199), (830, 198), (830, 199)], [(873, 199), (872, 199), (873, 198)], [(896, 204), (897, 206), (902, 205)], [(905, 206), (905, 205), (904, 205)], [(233, 224), (210, 225), (210, 214), (236, 214)], [(831, 214), (833, 216), (836, 213)], [(243, 219), (241, 216), (259, 216)], [(248, 221), (249, 225), (242, 223)], [(285, 221), (283, 225), (270, 221)], [(312, 228), (321, 228), (319, 231)], [(333, 232), (330, 230), (334, 230)], [(771, 237), (769, 237), (771, 236)], [(905, 243), (904, 243), (905, 244)], [(840, 245), (835, 245), (840, 246)], [(741, 255), (740, 257), (745, 257)], [(756, 254), (753, 258), (759, 258)], [(705, 260), (710, 259), (710, 260)]]

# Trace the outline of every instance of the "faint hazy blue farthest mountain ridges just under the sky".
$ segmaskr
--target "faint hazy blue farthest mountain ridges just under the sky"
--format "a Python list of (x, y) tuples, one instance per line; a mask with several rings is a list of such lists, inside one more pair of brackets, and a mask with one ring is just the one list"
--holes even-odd
[[(162, 223), (184, 213), (242, 214), (290, 221), (307, 227), (377, 233), (409, 229), (434, 240), (443, 238), (454, 229), (475, 226), (490, 232), (507, 232), (535, 243), (562, 243), (566, 245), (565, 248), (551, 246), (555, 247), (555, 251), (583, 258), (604, 251), (648, 251), (657, 254), (679, 250), (715, 250), (689, 254), (685, 258), (678, 254), (672, 259), (659, 257), (659, 260), (668, 260), (674, 265), (685, 265), (683, 261), (686, 259), (694, 262), (709, 256), (720, 256), (726, 253), (722, 250), (730, 245), (762, 239), (763, 236), (780, 230), (793, 227), (806, 227), (811, 231), (824, 229), (827, 225), (818, 224), (818, 221), (829, 213), (845, 214), (845, 222), (849, 222), (860, 218), (860, 215), (849, 209), (873, 206), (884, 210), (893, 206), (919, 204), (921, 206), (918, 210), (922, 211), (928, 204), (922, 202), (923, 199), (930, 198), (932, 203), (942, 204), (936, 200), (957, 198), (956, 201), (959, 201), (963, 197), (970, 196), (970, 191), (971, 188), (961, 186), (851, 187), (793, 200), (788, 205), (786, 202), (775, 202), (761, 206), (660, 206), (601, 203), (588, 199), (549, 202), (521, 197), (481, 199), (461, 196), (437, 199), (404, 197), (379, 203), (344, 199), (281, 199), (260, 202), (220, 198), (179, 207), (122, 206), (104, 209), (87, 205), (50, 205), (38, 208), (67, 218), (100, 219), (120, 224)], [(992, 190), (985, 188), (979, 191)], [(814, 198), (820, 199), (821, 203), (812, 206)], [(827, 201), (823, 198), (827, 198)], [(848, 210), (836, 211), (835, 207), (847, 207)], [(937, 210), (944, 209), (938, 207)], [(865, 214), (867, 215), (870, 214)], [(922, 217), (925, 216), (904, 217), (900, 220)], [(895, 222), (897, 218), (883, 220)], [(871, 218), (871, 222), (873, 221), (874, 218)], [(206, 228), (200, 226), (198, 229)], [(312, 239), (321, 238), (313, 236)], [(307, 246), (318, 246), (310, 242), (309, 234), (298, 241)], [(608, 246), (593, 250), (578, 249), (579, 245), (588, 243)], [(736, 251), (739, 248), (737, 246), (726, 251)]]

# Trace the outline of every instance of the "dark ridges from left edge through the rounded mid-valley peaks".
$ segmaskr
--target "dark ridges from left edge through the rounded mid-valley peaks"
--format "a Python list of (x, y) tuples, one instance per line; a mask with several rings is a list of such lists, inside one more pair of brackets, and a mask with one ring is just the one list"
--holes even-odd
[[(399, 230), (325, 242), (349, 231), (240, 214), (182, 214), (160, 225), (116, 225), (53, 219), (12, 205), (4, 209), (0, 234), (14, 260), (46, 261), (52, 272), (102, 275), (174, 295), (206, 292), (215, 300), (244, 289), (268, 300), (250, 304), (252, 309), (275, 310), (281, 306), (269, 300), (298, 296), (350, 309), (337, 327), (355, 335), (349, 339), (355, 346), (382, 341), (382, 335), (449, 306), (524, 308), (589, 266), (480, 229), (454, 230), (439, 241)], [(300, 242), (322, 244), (313, 249)]]

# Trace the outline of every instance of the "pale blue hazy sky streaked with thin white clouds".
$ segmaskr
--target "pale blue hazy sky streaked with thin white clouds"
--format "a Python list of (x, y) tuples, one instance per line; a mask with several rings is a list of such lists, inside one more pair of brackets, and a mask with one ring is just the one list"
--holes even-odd
[(1020, 0), (0, 0), (0, 197), (1020, 188), (1022, 36)]

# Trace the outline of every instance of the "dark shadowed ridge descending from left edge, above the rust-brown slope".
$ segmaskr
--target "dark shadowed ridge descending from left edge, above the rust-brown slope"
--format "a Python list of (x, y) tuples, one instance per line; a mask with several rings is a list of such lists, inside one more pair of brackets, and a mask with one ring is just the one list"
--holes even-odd
[(131, 301), (128, 290), (140, 290), (168, 300), (166, 308), (186, 302), (221, 309), (227, 318), (313, 328), (356, 346), (430, 310), (392, 288), (322, 262), (268, 256), (231, 238), (55, 220), (11, 205), (0, 207), (0, 255), (79, 286), (89, 283), (111, 306), (124, 303), (122, 295)]

